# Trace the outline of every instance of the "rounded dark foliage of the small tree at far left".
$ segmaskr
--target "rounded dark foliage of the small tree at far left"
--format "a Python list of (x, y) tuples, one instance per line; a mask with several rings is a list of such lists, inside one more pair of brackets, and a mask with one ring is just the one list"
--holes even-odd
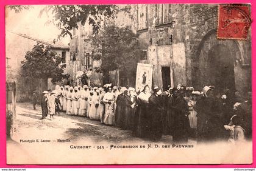
[(50, 47), (37, 44), (25, 55), (21, 61), (21, 75), (26, 78), (52, 78), (52, 83), (68, 78), (63, 74), (63, 67), (60, 66), (62, 56), (57, 55)]

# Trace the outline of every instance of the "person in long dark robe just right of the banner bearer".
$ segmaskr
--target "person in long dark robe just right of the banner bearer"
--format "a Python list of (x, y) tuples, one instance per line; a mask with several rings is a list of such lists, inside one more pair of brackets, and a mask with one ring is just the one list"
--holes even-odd
[(149, 129), (150, 136), (153, 141), (162, 138), (162, 113), (163, 101), (162, 90), (158, 87), (154, 88), (154, 93), (149, 97), (149, 112), (151, 119), (151, 126)]

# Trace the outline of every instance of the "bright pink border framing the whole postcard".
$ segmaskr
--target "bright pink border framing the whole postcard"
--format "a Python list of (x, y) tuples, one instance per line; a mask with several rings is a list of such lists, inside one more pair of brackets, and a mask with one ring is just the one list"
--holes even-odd
[[(192, 0), (192, 1), (187, 1), (187, 0), (172, 0), (172, 1), (166, 1), (166, 0), (151, 0), (151, 1), (146, 1), (146, 0), (88, 0), (88, 1), (84, 1), (84, 0), (6, 0), (6, 1), (0, 1), (0, 69), (1, 69), (1, 77), (0, 77), (0, 89), (2, 90), (0, 93), (0, 97), (1, 97), (1, 101), (0, 101), (0, 168), (2, 167), (7, 167), (7, 168), (65, 168), (65, 167), (87, 167), (87, 168), (91, 168), (91, 167), (140, 167), (140, 168), (149, 168), (149, 167), (162, 167), (162, 168), (168, 168), (168, 167), (228, 167), (228, 168), (237, 168), (237, 167), (256, 167), (256, 159), (255, 157), (253, 158), (253, 164), (248, 164), (248, 165), (123, 165), (123, 166), (115, 166), (115, 165), (108, 165), (108, 166), (104, 166), (104, 165), (90, 165), (90, 166), (84, 166), (84, 165), (75, 165), (75, 166), (69, 166), (69, 165), (12, 165), (12, 166), (7, 166), (6, 165), (6, 144), (5, 144), (5, 27), (4, 27), (4, 7), (5, 5), (21, 5), (21, 4), (146, 4), (146, 3), (151, 3), (151, 4), (155, 4), (155, 3), (176, 3), (176, 4), (185, 4), (185, 3), (193, 3), (193, 4), (201, 4), (201, 3), (250, 3), (252, 5), (252, 19), (256, 18), (256, 13), (254, 12), (255, 5), (256, 3), (253, 2), (253, 0)], [(254, 47), (254, 43), (256, 42), (256, 36), (255, 36), (256, 32), (255, 32), (255, 22), (252, 22), (252, 47)], [(252, 57), (256, 55), (256, 50), (252, 49)], [(253, 100), (253, 113), (255, 113), (255, 102), (256, 99), (254, 98), (254, 96), (256, 96), (256, 92), (254, 91), (254, 85), (256, 83), (256, 79), (255, 75), (256, 75), (256, 70), (255, 70), (255, 64), (256, 59), (252, 58), (252, 100)], [(253, 81), (254, 80), (254, 81)], [(253, 116), (253, 122), (254, 122), (254, 126), (255, 126), (255, 115)], [(253, 144), (255, 145), (255, 132), (256, 129), (255, 127), (253, 127)], [(253, 146), (253, 153), (256, 154), (256, 150), (255, 150), (255, 146)], [(26, 156), (24, 156), (26, 157)]]

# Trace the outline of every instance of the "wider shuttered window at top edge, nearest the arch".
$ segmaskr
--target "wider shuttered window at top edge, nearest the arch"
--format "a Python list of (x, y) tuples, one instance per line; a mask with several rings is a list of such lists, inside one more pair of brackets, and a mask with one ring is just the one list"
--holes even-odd
[(155, 4), (155, 24), (171, 22), (171, 4)]

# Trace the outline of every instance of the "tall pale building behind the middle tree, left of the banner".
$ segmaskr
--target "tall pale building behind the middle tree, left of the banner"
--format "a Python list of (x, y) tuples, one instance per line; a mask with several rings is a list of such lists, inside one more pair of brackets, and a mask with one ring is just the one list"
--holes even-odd
[[(133, 24), (133, 18), (135, 18), (135, 8), (131, 8), (131, 13), (123, 12), (121, 9), (126, 5), (118, 5), (119, 12), (116, 18), (107, 22), (115, 22), (119, 27), (130, 25), (135, 30)], [(104, 73), (98, 72), (97, 68), (100, 67), (101, 61), (93, 59), (93, 29), (91, 25), (85, 22), (82, 25), (80, 22), (77, 23), (78, 29), (73, 29), (72, 39), (69, 41), (70, 47), (70, 58), (67, 61), (66, 71), (71, 75), (71, 85), (81, 84), (77, 80), (77, 72), (84, 70), (91, 70), (90, 85), (91, 86), (102, 86), (105, 83), (112, 82), (115, 85), (127, 86), (127, 79), (125, 73), (119, 72), (119, 70), (113, 70), (109, 73), (109, 76), (105, 76)], [(128, 81), (129, 82), (129, 81)], [(88, 84), (87, 79), (84, 84)]]

